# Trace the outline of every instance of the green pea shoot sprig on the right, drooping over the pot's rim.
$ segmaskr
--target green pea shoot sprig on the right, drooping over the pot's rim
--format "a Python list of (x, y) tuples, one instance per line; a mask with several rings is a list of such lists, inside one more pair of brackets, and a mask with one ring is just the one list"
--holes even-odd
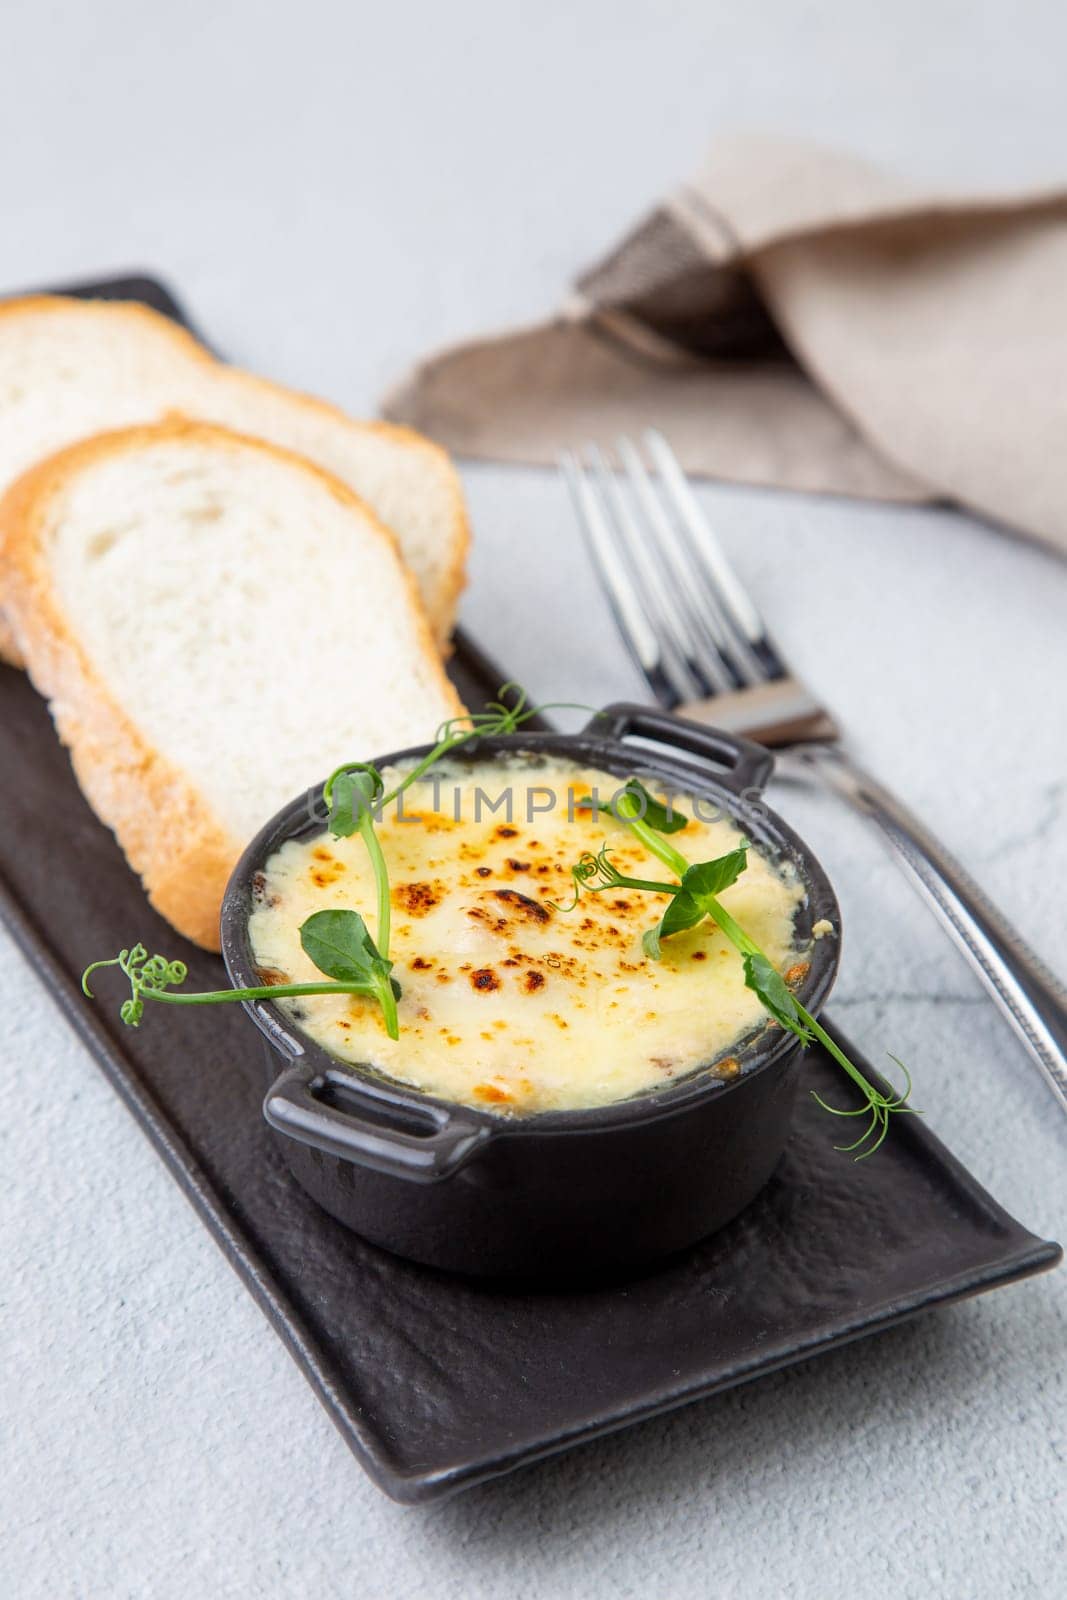
[[(597, 856), (585, 853), (571, 869), (574, 882), (574, 899), (561, 910), (573, 910), (582, 893), (597, 894), (603, 890), (643, 890), (654, 894), (670, 894), (670, 902), (664, 909), (659, 923), (643, 936), (645, 954), (651, 960), (662, 960), (662, 941), (686, 928), (710, 918), (726, 934), (744, 963), (745, 986), (757, 995), (765, 1011), (774, 1021), (795, 1034), (805, 1045), (817, 1040), (841, 1070), (851, 1078), (862, 1094), (857, 1107), (829, 1106), (821, 1094), (811, 1091), (813, 1099), (835, 1117), (865, 1117), (864, 1131), (853, 1144), (838, 1144), (837, 1149), (854, 1154), (856, 1160), (873, 1155), (889, 1131), (889, 1117), (897, 1112), (913, 1112), (909, 1106), (912, 1080), (907, 1067), (891, 1056), (891, 1061), (904, 1072), (905, 1088), (902, 1094), (885, 1094), (875, 1088), (859, 1067), (848, 1059), (835, 1038), (827, 1034), (821, 1022), (800, 1003), (782, 974), (769, 957), (758, 947), (745, 930), (736, 922), (720, 901), (723, 890), (737, 882), (747, 867), (749, 843), (742, 842), (736, 850), (718, 856), (715, 861), (689, 862), (680, 850), (665, 837), (678, 834), (686, 827), (688, 818), (672, 806), (664, 806), (653, 800), (648, 790), (630, 779), (624, 790), (614, 797), (614, 816), (630, 834), (638, 838), (646, 850), (662, 861), (675, 874), (673, 882), (635, 878), (622, 874), (611, 861), (609, 848), (605, 845)], [(669, 827), (662, 827), (664, 818)]]

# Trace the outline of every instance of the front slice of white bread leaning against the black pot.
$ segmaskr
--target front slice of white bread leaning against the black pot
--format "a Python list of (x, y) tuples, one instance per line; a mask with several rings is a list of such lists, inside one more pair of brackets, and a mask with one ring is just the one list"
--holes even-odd
[(210, 949), (286, 800), (462, 712), (392, 536), (262, 440), (170, 422), (61, 451), (0, 502), (0, 576), (90, 805)]

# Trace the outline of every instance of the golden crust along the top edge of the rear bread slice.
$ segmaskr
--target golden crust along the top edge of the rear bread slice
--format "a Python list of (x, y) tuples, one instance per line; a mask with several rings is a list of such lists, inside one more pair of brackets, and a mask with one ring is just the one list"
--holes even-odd
[[(211, 350), (208, 350), (206, 346), (203, 346), (200, 339), (189, 331), (189, 328), (182, 328), (170, 317), (165, 317), (158, 310), (152, 310), (150, 306), (144, 306), (139, 301), (83, 301), (69, 294), (26, 294), (19, 299), (0, 301), (0, 318), (14, 318), (27, 314), (48, 315), (59, 312), (67, 315), (75, 314), (78, 317), (104, 317), (141, 322), (146, 328), (152, 330), (155, 338), (168, 339), (182, 358), (195, 362), (203, 366), (205, 371), (211, 371), (213, 374), (218, 373), (219, 381), (259, 389), (291, 405), (302, 405), (318, 416), (325, 416), (333, 422), (354, 429), (355, 432), (371, 432), (394, 438), (397, 443), (403, 443), (432, 461), (448, 485), (453, 510), (451, 547), (440, 594), (434, 597), (432, 603), (422, 595), (419, 595), (419, 600), (426, 606), (430, 618), (438, 650), (448, 648), (448, 638), (456, 622), (456, 606), (467, 581), (466, 573), (467, 555), (470, 550), (470, 522), (467, 517), (462, 483), (459, 482), (459, 474), (456, 472), (446, 450), (435, 445), (434, 440), (426, 438), (411, 427), (384, 421), (358, 421), (357, 418), (349, 416), (349, 413), (341, 406), (333, 405), (330, 400), (320, 400), (317, 395), (309, 395), (301, 389), (290, 389), (285, 384), (274, 382), (270, 378), (261, 378), (258, 373), (245, 371), (240, 366), (230, 366), (227, 362), (218, 360), (218, 357), (214, 357)], [(176, 418), (181, 416), (187, 421), (197, 421), (197, 418), (189, 416), (189, 413), (182, 411), (179, 406), (176, 406), (171, 414)], [(146, 426), (152, 426), (152, 419), (146, 419)], [(13, 640), (11, 630), (3, 627), (2, 618), (0, 659), (10, 661), (13, 666), (22, 666), (18, 645)]]

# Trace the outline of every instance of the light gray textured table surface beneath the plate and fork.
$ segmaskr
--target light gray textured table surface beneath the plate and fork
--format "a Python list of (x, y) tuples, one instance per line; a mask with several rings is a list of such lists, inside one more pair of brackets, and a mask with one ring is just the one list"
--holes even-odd
[[(422, 349), (549, 307), (717, 128), (920, 176), (1064, 176), (1053, 3), (98, 0), (5, 21), (0, 285), (158, 269), (232, 355), (357, 411)], [(466, 482), (470, 630), (537, 696), (637, 690), (553, 477)], [(856, 747), (1062, 970), (1067, 568), (944, 510), (702, 498)], [(1062, 1237), (1067, 1130), (1035, 1070), (877, 843), (777, 798), (843, 901), (837, 1016)], [(1062, 1592), (1067, 1274), (402, 1510), (5, 938), (0, 1083), (6, 1595)]]

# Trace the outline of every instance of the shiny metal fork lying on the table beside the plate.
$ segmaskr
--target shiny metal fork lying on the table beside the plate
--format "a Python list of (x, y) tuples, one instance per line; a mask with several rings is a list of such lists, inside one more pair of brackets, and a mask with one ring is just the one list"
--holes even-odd
[(896, 795), (838, 742), (833, 717), (785, 666), (662, 434), (649, 472), (629, 438), (622, 472), (587, 446), (566, 478), (619, 630), (656, 699), (697, 722), (790, 750), (873, 821), (977, 970), (1067, 1110), (1067, 989)]

